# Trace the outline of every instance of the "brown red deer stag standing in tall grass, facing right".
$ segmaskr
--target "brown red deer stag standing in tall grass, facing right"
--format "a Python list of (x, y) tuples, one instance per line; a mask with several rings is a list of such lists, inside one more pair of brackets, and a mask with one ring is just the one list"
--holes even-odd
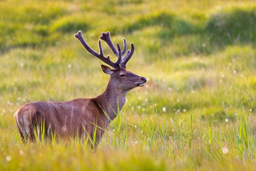
[[(88, 136), (90, 138), (95, 136), (95, 145), (97, 146), (106, 127), (122, 109), (125, 95), (136, 87), (143, 87), (146, 82), (146, 78), (126, 71), (126, 63), (134, 53), (133, 43), (131, 43), (131, 50), (127, 50), (126, 39), (123, 38), (124, 46), (121, 51), (119, 44), (116, 44), (117, 48), (114, 46), (110, 32), (102, 32), (98, 40), (98, 53), (84, 40), (82, 31), (78, 31), (74, 36), (87, 52), (113, 68), (101, 65), (102, 71), (110, 75), (108, 85), (104, 92), (95, 98), (77, 98), (65, 102), (35, 101), (24, 104), (14, 114), (23, 143), (35, 142), (35, 129), (44, 124), (45, 131), (39, 131), (40, 135), (45, 134), (45, 137), (49, 137), (54, 133), (59, 138), (78, 136), (81, 140)], [(110, 60), (109, 55), (104, 56), (101, 40), (106, 42), (117, 57), (115, 62)], [(97, 127), (100, 129), (97, 129), (95, 133)]]

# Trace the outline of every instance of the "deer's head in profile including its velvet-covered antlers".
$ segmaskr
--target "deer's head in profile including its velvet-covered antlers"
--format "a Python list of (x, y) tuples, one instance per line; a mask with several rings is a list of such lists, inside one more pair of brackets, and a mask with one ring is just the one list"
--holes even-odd
[(117, 44), (117, 49), (114, 46), (110, 38), (110, 32), (106, 32), (106, 33), (102, 32), (100, 39), (106, 42), (106, 44), (109, 46), (111, 51), (117, 57), (116, 62), (112, 62), (110, 60), (110, 56), (107, 56), (107, 57), (104, 56), (100, 40), (98, 41), (99, 53), (97, 53), (87, 44), (86, 40), (84, 40), (84, 38), (82, 37), (81, 31), (78, 31), (78, 33), (75, 34), (75, 37), (81, 42), (84, 49), (86, 49), (90, 54), (99, 58), (100, 60), (102, 60), (103, 62), (105, 62), (106, 64), (114, 68), (114, 69), (111, 69), (107, 66), (101, 65), (102, 71), (105, 74), (109, 74), (111, 76), (110, 82), (113, 83), (116, 89), (129, 91), (135, 87), (144, 86), (146, 82), (146, 78), (133, 74), (130, 71), (126, 71), (126, 63), (132, 57), (134, 52), (133, 43), (131, 44), (131, 47), (132, 47), (131, 51), (127, 50), (126, 52), (126, 49), (127, 49), (126, 39), (123, 38), (124, 47), (123, 47), (123, 50), (121, 51), (119, 44)]

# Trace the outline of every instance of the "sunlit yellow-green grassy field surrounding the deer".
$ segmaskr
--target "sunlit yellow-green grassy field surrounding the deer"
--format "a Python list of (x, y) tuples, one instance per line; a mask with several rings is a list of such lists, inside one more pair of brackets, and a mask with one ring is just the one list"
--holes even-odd
[[(0, 170), (255, 170), (255, 28), (255, 1), (0, 1)], [(95, 151), (76, 138), (24, 145), (20, 106), (108, 83), (78, 30), (95, 50), (102, 31), (134, 42), (127, 70), (147, 82)]]

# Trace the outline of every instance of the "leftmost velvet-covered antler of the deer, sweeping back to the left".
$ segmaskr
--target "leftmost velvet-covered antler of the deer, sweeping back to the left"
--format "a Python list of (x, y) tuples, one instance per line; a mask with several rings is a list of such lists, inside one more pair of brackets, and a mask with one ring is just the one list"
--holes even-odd
[[(82, 46), (84, 47), (84, 49), (86, 49), (90, 54), (92, 54), (93, 56), (99, 58), (100, 60), (102, 60), (103, 62), (105, 62), (106, 64), (110, 65), (111, 67), (113, 67), (115, 70), (118, 70), (120, 68), (119, 66), (119, 63), (120, 63), (120, 60), (119, 59), (119, 62), (112, 62), (110, 60), (110, 57), (104, 57), (104, 54), (103, 54), (103, 50), (102, 50), (102, 47), (101, 47), (101, 41), (99, 40), (98, 44), (99, 44), (99, 53), (97, 53), (96, 51), (94, 51), (86, 42), (86, 40), (84, 40), (83, 36), (82, 36), (82, 31), (78, 31), (77, 34), (74, 35), (82, 44)], [(119, 47), (120, 48), (120, 47)]]

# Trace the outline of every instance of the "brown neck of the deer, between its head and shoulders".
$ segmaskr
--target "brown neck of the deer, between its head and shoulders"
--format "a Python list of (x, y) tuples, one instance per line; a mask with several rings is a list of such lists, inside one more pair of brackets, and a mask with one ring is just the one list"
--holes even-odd
[(126, 93), (127, 92), (116, 88), (115, 82), (110, 80), (105, 91), (96, 97), (96, 101), (109, 118), (113, 120), (116, 118), (118, 108), (121, 110), (125, 103)]

